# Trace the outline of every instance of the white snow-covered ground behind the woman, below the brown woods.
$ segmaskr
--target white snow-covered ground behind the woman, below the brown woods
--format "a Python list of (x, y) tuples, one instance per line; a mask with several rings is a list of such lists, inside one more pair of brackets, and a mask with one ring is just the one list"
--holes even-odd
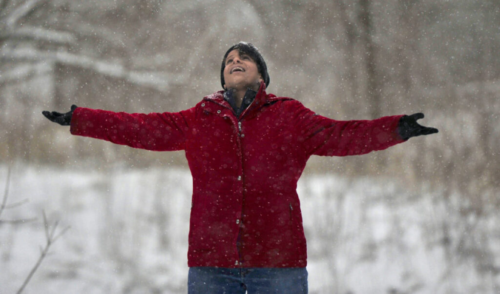
[[(0, 166), (0, 188), (7, 167)], [(3, 194), (3, 193), (2, 193)], [(500, 215), (464, 214), (458, 196), (383, 178), (303, 175), (309, 293), (498, 293)], [(186, 293), (191, 177), (186, 169), (12, 170), (0, 219), (0, 293), (39, 256), (41, 211), (58, 230), (24, 293)]]

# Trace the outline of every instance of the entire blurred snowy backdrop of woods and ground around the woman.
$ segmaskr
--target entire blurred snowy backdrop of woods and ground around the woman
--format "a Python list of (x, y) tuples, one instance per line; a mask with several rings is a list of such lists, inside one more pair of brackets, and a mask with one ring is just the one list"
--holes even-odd
[(25, 293), (185, 293), (183, 153), (71, 136), (41, 111), (186, 109), (240, 40), (269, 93), (439, 129), (309, 160), (311, 293), (499, 293), (499, 24), (498, 0), (0, 0), (0, 293), (36, 262), (42, 210), (70, 229)]

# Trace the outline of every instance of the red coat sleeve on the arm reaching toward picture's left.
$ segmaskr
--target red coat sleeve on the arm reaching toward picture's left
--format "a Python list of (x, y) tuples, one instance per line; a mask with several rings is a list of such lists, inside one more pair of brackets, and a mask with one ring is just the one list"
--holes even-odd
[(78, 107), (71, 117), (73, 135), (154, 151), (182, 150), (194, 108), (175, 113), (125, 113)]

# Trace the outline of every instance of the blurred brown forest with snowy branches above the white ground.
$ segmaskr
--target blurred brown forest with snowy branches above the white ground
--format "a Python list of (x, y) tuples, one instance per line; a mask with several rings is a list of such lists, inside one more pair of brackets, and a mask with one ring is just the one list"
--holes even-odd
[(423, 112), (438, 134), (313, 157), (305, 173), (458, 195), (466, 232), (500, 207), (499, 28), (498, 0), (0, 0), (0, 164), (186, 168), (182, 152), (71, 136), (41, 111), (187, 109), (221, 89), (222, 56), (243, 40), (267, 63), (268, 93), (318, 114)]

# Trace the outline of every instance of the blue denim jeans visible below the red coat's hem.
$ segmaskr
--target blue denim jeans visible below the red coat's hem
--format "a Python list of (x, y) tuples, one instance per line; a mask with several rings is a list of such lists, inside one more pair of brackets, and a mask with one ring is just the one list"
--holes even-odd
[(189, 268), (188, 294), (307, 294), (305, 268)]

